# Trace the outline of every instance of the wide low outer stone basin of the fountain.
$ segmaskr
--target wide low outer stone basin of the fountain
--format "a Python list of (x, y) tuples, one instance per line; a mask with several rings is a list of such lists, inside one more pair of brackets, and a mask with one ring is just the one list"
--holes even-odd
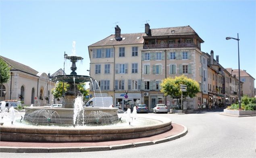
[(171, 130), (171, 120), (143, 115), (138, 120), (154, 123), (133, 126), (1, 126), (1, 141), (11, 142), (102, 142), (153, 136)]

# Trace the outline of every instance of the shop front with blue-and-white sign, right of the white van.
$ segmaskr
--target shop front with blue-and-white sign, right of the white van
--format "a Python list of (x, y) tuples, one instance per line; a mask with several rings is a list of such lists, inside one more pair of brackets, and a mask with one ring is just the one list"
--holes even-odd
[(141, 103), (141, 93), (114, 93), (114, 105), (124, 111)]

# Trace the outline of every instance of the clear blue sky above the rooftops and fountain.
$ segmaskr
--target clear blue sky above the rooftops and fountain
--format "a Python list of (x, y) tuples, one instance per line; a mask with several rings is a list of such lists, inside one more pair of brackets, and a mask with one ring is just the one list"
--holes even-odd
[[(64, 51), (71, 55), (73, 41), (79, 75), (89, 75), (88, 46), (114, 34), (144, 32), (150, 28), (191, 26), (204, 40), (201, 50), (214, 56), (225, 68), (240, 69), (256, 79), (255, 0), (1, 0), (0, 55), (45, 73), (63, 69)], [(71, 72), (66, 61), (65, 71)]]

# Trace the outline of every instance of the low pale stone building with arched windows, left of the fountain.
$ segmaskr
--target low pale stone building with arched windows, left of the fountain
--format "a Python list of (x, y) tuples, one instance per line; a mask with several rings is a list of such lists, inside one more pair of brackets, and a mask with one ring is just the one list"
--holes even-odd
[(52, 89), (55, 83), (46, 73), (39, 73), (31, 67), (0, 56), (10, 66), (10, 79), (0, 85), (0, 101), (18, 100), (24, 105), (50, 105), (53, 103)]

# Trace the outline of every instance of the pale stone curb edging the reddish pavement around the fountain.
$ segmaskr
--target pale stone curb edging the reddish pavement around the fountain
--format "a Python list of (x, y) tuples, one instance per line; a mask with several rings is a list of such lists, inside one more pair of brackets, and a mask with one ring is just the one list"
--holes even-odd
[(67, 147), (67, 148), (0, 147), (0, 152), (17, 152), (17, 153), (94, 152), (94, 151), (106, 151), (106, 150), (135, 148), (140, 146), (149, 146), (149, 145), (169, 142), (185, 136), (188, 132), (187, 127), (181, 124), (177, 124), (177, 125), (182, 126), (184, 128), (184, 130), (181, 133), (173, 136), (169, 136), (166, 138), (154, 140), (154, 141), (136, 142), (136, 143), (128, 143), (128, 144), (120, 144), (120, 145), (112, 145), (112, 146)]

